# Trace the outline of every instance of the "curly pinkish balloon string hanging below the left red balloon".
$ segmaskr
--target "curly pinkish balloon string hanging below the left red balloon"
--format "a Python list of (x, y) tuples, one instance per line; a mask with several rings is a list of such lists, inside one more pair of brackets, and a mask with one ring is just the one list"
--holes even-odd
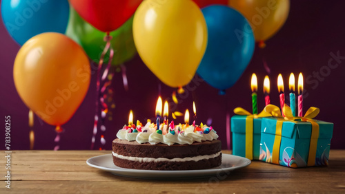
[[(106, 53), (108, 52), (109, 48), (110, 48), (110, 41), (112, 39), (112, 36), (109, 35), (109, 32), (107, 32), (107, 35), (104, 37), (104, 41), (106, 41), (106, 47), (104, 47), (104, 50), (101, 54), (101, 58), (99, 59), (99, 64), (98, 64), (98, 68), (97, 68), (97, 83), (96, 83), (96, 111), (95, 111), (95, 122), (94, 122), (94, 126), (93, 126), (93, 133), (92, 133), (92, 139), (91, 139), (91, 148), (93, 149), (93, 147), (95, 146), (95, 138), (97, 135), (97, 126), (98, 126), (98, 112), (99, 112), (99, 98), (101, 96), (100, 94), (100, 85), (101, 85), (101, 67), (103, 65), (103, 61), (104, 61), (104, 56), (106, 55)], [(110, 68), (110, 64), (112, 61), (112, 56), (114, 54), (114, 51), (112, 51), (112, 49), (110, 50), (110, 57), (109, 57), (109, 61), (108, 61), (108, 67), (106, 67), (106, 70), (104, 73), (108, 74), (108, 70)], [(103, 74), (104, 76), (104, 74)], [(102, 76), (102, 77), (103, 77)], [(105, 76), (106, 77), (106, 76)]]

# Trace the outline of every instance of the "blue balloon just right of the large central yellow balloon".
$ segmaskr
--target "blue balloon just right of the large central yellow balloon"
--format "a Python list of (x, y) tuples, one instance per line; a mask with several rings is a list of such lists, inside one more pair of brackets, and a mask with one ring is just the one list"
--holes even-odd
[(208, 30), (208, 44), (197, 73), (211, 86), (232, 87), (253, 56), (255, 39), (246, 18), (227, 6), (202, 9)]

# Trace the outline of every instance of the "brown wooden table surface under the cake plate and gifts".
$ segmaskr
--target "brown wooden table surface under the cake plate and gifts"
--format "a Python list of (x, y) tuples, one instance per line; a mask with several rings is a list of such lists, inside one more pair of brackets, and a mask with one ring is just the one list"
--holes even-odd
[(11, 188), (3, 182), (7, 170), (1, 156), (0, 193), (345, 193), (345, 150), (331, 150), (329, 166), (290, 169), (253, 161), (223, 180), (140, 180), (86, 164), (107, 153), (111, 151), (12, 151)]

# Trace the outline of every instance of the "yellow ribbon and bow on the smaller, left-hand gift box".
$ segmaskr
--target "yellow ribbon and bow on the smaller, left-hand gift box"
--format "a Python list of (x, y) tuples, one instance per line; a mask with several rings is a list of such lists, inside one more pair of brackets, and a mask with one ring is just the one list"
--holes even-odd
[(237, 115), (244, 115), (246, 117), (246, 158), (253, 160), (253, 119), (272, 116), (267, 111), (262, 110), (259, 114), (250, 114), (242, 107), (234, 109), (234, 113)]

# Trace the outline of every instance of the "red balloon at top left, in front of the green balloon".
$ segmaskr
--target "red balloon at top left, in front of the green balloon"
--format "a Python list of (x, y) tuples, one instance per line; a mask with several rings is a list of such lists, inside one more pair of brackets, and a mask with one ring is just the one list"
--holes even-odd
[(102, 32), (111, 32), (124, 24), (142, 0), (70, 0), (73, 8), (88, 23)]

